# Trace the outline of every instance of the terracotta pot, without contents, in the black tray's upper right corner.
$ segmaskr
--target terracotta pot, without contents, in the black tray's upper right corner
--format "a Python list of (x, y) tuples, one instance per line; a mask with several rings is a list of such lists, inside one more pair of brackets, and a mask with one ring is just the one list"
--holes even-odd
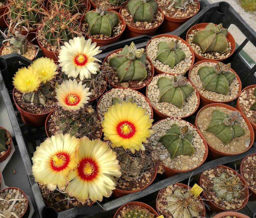
[[(191, 28), (188, 30), (188, 32), (187, 32), (187, 35), (186, 35), (186, 42), (188, 43), (188, 34), (189, 34), (192, 30), (195, 30), (195, 29), (201, 30), (201, 29), (204, 29), (207, 25), (208, 25), (208, 23), (198, 23), (198, 24), (194, 25), (193, 27), (191, 27)], [(217, 26), (217, 25), (215, 24), (215, 26)], [(228, 32), (228, 35), (227, 35), (226, 38), (227, 38), (228, 42), (231, 43), (231, 51), (230, 51), (230, 55), (228, 56), (228, 57), (230, 57), (230, 56), (234, 53), (234, 51), (235, 51), (235, 49), (236, 49), (236, 42), (235, 42), (235, 40), (234, 40), (234, 38), (233, 38), (233, 36), (231, 35), (230, 32)], [(210, 58), (202, 57), (202, 56), (198, 55), (196, 52), (194, 52), (194, 54), (195, 54), (195, 57), (196, 57), (196, 62), (198, 62), (198, 61), (200, 61), (200, 60), (213, 60), (213, 59), (210, 59)], [(214, 60), (223, 61), (223, 60), (226, 60), (228, 57), (225, 57), (225, 58), (222, 58), (222, 59), (214, 59)]]

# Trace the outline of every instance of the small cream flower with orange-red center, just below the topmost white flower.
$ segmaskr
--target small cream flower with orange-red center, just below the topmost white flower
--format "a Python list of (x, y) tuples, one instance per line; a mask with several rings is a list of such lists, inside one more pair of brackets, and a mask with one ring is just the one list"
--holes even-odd
[(88, 103), (92, 92), (89, 92), (90, 88), (85, 88), (86, 84), (82, 85), (82, 81), (77, 83), (74, 79), (65, 80), (57, 88), (56, 99), (58, 105), (63, 107), (65, 110), (79, 110), (84, 104)]

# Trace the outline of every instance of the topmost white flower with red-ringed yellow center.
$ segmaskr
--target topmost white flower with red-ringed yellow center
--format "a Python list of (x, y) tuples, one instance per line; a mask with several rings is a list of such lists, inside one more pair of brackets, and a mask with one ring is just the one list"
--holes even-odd
[(92, 43), (91, 39), (86, 40), (84, 37), (75, 37), (65, 42), (59, 52), (59, 66), (61, 71), (65, 72), (68, 77), (80, 80), (90, 79), (91, 74), (96, 74), (100, 70), (99, 59), (95, 55), (101, 53), (100, 46)]

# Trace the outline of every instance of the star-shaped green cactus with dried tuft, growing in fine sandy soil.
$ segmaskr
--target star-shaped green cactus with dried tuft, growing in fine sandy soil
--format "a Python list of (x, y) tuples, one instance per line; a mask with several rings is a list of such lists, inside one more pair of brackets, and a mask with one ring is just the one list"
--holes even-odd
[(238, 123), (239, 120), (241, 120), (241, 114), (238, 111), (225, 114), (219, 110), (214, 110), (206, 131), (214, 134), (223, 144), (227, 144), (233, 138), (244, 135), (245, 132)]

